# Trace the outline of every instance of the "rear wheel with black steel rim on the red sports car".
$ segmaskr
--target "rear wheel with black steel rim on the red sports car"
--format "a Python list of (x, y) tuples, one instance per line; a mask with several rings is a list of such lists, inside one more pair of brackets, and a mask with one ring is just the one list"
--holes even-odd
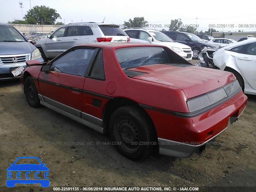
[[(137, 160), (148, 156), (155, 142), (154, 126), (145, 112), (137, 106), (118, 108), (110, 117), (110, 137), (117, 150), (125, 157)], [(143, 143), (146, 142), (146, 143)]]

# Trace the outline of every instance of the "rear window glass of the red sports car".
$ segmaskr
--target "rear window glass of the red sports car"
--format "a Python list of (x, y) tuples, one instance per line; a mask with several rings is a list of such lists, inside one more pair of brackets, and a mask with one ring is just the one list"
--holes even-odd
[(116, 49), (115, 52), (122, 69), (170, 63), (167, 50), (162, 47), (128, 47)]

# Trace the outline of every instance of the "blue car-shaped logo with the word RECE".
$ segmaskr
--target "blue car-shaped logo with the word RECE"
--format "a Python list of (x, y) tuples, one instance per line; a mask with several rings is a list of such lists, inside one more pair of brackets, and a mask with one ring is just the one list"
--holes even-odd
[[(34, 163), (26, 163), (28, 160)], [(22, 162), (24, 161), (24, 162)], [(22, 162), (22, 163), (21, 163)], [(35, 163), (36, 162), (36, 163)], [(43, 164), (38, 157), (18, 157), (14, 163), (10, 164), (7, 171), (7, 187), (14, 187), (16, 183), (36, 184), (40, 183), (42, 187), (48, 187), (50, 180), (48, 179), (49, 169)], [(23, 174), (22, 174), (23, 172)], [(22, 178), (25, 176), (25, 178)]]

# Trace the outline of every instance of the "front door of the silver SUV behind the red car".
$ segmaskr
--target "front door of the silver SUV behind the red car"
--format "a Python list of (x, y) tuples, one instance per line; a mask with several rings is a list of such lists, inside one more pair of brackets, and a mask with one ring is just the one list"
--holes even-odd
[(44, 52), (46, 57), (55, 58), (65, 51), (62, 40), (66, 35), (67, 28), (68, 27), (59, 28), (46, 40), (46, 51)]

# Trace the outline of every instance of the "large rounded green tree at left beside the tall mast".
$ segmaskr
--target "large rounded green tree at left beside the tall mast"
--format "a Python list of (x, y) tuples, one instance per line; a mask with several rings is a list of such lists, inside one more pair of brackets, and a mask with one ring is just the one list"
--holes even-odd
[(60, 14), (58, 14), (55, 9), (46, 6), (34, 6), (32, 9), (27, 11), (24, 19), (28, 24), (38, 23), (53, 25), (59, 17)]

